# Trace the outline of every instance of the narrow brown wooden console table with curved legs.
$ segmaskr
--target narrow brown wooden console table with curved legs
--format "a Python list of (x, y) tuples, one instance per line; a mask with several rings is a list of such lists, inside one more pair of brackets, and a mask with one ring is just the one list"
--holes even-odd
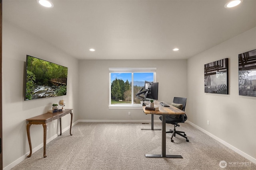
[(31, 156), (32, 154), (32, 146), (31, 146), (31, 138), (30, 138), (30, 126), (31, 125), (43, 125), (44, 128), (44, 158), (46, 157), (46, 132), (47, 132), (47, 123), (51, 122), (53, 120), (56, 119), (60, 119), (60, 135), (62, 135), (62, 131), (61, 131), (61, 117), (63, 117), (64, 115), (67, 115), (70, 113), (71, 115), (71, 121), (70, 121), (70, 135), (71, 134), (71, 127), (72, 127), (72, 119), (73, 119), (73, 113), (72, 113), (73, 109), (65, 109), (63, 111), (60, 112), (56, 112), (56, 113), (44, 113), (42, 115), (36, 116), (36, 117), (31, 117), (30, 119), (26, 119), (28, 121), (27, 124), (27, 134), (28, 134), (28, 143), (29, 143), (29, 149), (30, 149), (30, 154), (27, 156), (28, 158)]

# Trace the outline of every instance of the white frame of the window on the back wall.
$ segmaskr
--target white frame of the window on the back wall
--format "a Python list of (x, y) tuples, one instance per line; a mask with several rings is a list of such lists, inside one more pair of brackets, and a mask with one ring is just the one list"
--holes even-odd
[(109, 68), (109, 109), (141, 109), (142, 105), (134, 104), (132, 100), (131, 105), (112, 105), (111, 104), (111, 73), (132, 73), (132, 99), (134, 98), (133, 92), (133, 74), (137, 72), (153, 72), (153, 81), (156, 82), (156, 67), (147, 68)]

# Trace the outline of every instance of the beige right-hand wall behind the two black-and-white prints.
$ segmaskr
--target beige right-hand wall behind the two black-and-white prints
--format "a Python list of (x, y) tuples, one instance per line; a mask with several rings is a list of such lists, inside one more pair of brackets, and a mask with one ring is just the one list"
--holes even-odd
[[(256, 28), (188, 59), (188, 120), (256, 162), (256, 97), (238, 95), (238, 54), (256, 49)], [(204, 64), (229, 58), (230, 94), (204, 93)], [(207, 125), (207, 120), (210, 125)]]

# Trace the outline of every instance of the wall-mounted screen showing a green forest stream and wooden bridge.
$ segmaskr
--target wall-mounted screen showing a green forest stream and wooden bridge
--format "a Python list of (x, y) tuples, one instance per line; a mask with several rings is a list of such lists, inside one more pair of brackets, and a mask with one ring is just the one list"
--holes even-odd
[(26, 57), (25, 100), (67, 94), (68, 67), (36, 57)]

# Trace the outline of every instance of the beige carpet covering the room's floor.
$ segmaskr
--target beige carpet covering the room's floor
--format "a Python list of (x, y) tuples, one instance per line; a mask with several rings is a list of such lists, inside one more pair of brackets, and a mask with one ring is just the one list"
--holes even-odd
[[(154, 126), (161, 128), (161, 123)], [(177, 130), (185, 131), (189, 142), (176, 135), (172, 143), (172, 134), (166, 134), (166, 154), (183, 158), (146, 158), (145, 154), (161, 154), (161, 131), (141, 130), (150, 127), (142, 123), (77, 123), (72, 136), (65, 131), (46, 145), (46, 158), (41, 148), (12, 170), (256, 169), (256, 164), (188, 123)], [(173, 126), (166, 124), (166, 129)], [(225, 168), (219, 165), (223, 160)]]

